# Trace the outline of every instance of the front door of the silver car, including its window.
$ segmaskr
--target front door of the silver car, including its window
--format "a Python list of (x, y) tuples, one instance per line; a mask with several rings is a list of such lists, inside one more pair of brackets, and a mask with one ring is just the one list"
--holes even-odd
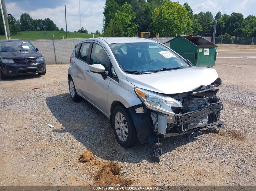
[[(102, 64), (108, 74), (110, 59), (105, 49), (97, 44), (93, 43), (91, 49), (90, 64)], [(108, 113), (108, 85), (110, 83), (110, 77), (104, 80), (100, 74), (96, 74), (89, 71), (85, 71), (86, 83), (83, 84), (83, 90), (86, 91), (88, 100), (101, 110), (105, 115)]]

